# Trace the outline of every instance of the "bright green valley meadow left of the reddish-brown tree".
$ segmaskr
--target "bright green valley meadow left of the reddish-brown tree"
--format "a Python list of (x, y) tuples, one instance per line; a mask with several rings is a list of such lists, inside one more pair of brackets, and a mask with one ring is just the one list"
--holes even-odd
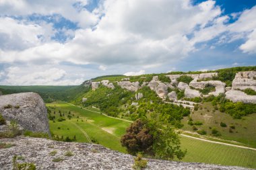
[[(91, 140), (97, 140), (103, 146), (112, 148), (113, 150), (125, 152), (125, 148), (121, 146), (120, 138), (122, 134), (125, 133), (127, 126), (131, 123), (108, 118), (102, 114), (83, 110), (82, 108), (64, 102), (48, 103), (46, 106), (51, 109), (52, 115), (56, 116), (55, 122), (51, 120), (49, 122), (53, 134), (58, 134), (64, 138), (66, 136), (73, 138), (75, 135), (77, 142), (88, 142), (84, 134), (75, 126), (75, 124), (77, 124), (86, 131)], [(55, 108), (56, 114), (53, 114), (53, 108)], [(65, 114), (66, 120), (63, 122), (57, 121), (57, 118), (59, 118), (59, 110), (61, 110), (62, 114)], [(67, 118), (69, 111), (72, 115), (71, 120)], [(77, 116), (79, 116), (79, 118), (77, 118)], [(67, 130), (67, 128), (69, 128), (69, 130)]]

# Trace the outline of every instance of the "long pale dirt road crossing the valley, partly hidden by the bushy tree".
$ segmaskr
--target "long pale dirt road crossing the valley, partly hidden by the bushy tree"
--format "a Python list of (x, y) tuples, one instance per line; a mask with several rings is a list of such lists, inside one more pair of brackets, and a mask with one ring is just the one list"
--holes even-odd
[[(71, 103), (69, 103), (69, 104), (71, 104)], [(71, 105), (73, 105), (73, 104), (71, 104)], [(74, 105), (74, 106), (77, 106), (77, 105)], [(79, 107), (79, 106), (77, 106), (77, 107)], [(86, 108), (82, 108), (82, 109), (88, 110), (88, 109), (86, 109)], [(98, 114), (102, 114), (102, 113), (100, 113), (100, 112), (96, 112), (96, 111), (92, 111), (92, 110), (88, 110), (88, 111), (90, 111), (90, 112), (95, 112), (95, 113), (98, 113)], [(103, 115), (106, 116), (106, 117), (109, 117), (109, 118), (114, 118), (114, 117), (108, 116), (108, 115), (106, 115), (106, 114), (103, 114)], [(114, 118), (114, 119), (123, 120), (123, 121), (125, 121), (125, 122), (131, 122), (131, 123), (133, 122), (133, 121), (125, 120), (125, 119), (121, 119), (121, 118)], [(203, 138), (197, 138), (197, 137), (194, 137), (194, 136), (189, 136), (189, 135), (187, 135), (187, 134), (180, 134), (180, 135), (181, 135), (181, 136), (185, 136), (185, 137), (187, 137), (187, 138), (194, 138), (194, 139), (197, 139), (197, 140), (203, 140), (203, 141), (205, 141), (205, 142), (216, 143), (216, 144), (224, 144), (224, 145), (227, 145), (227, 146), (234, 146), (234, 147), (237, 147), (237, 148), (246, 148), (246, 149), (251, 149), (251, 150), (253, 150), (253, 151), (256, 151), (256, 148), (250, 148), (250, 147), (247, 147), (247, 146), (240, 146), (240, 145), (229, 144), (229, 143), (225, 143), (225, 142), (217, 142), (217, 141), (213, 141), (213, 140), (207, 140), (207, 139), (203, 139)]]

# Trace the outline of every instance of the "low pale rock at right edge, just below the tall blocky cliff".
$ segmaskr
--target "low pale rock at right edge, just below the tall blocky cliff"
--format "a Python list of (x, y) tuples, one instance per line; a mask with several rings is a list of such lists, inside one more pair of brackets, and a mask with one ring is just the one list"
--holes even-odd
[(247, 95), (243, 91), (230, 89), (226, 93), (226, 99), (233, 102), (241, 101), (243, 103), (256, 103), (256, 95)]

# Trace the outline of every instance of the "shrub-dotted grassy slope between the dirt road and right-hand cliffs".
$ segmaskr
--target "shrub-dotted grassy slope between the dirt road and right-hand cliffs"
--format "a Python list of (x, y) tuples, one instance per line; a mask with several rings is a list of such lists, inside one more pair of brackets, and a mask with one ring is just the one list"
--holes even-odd
[[(207, 135), (212, 133), (210, 128), (215, 128), (221, 134), (218, 138), (225, 140), (234, 140), (243, 143), (244, 146), (256, 148), (256, 113), (244, 116), (242, 119), (234, 119), (229, 114), (222, 113), (218, 110), (213, 112), (214, 107), (210, 102), (203, 103), (202, 109), (191, 114), (193, 122), (203, 122), (203, 125), (196, 126), (198, 129), (207, 131)], [(227, 126), (220, 126), (220, 122), (224, 122)], [(193, 132), (193, 126), (187, 124), (187, 117), (183, 118), (183, 130)], [(234, 126), (231, 129), (230, 125)], [(194, 131), (195, 132), (195, 131)]]

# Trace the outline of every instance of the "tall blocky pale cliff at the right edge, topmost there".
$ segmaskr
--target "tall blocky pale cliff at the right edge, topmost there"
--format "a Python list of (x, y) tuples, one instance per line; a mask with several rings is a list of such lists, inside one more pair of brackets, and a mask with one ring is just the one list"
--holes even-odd
[(256, 91), (256, 71), (236, 73), (236, 77), (232, 81), (232, 89), (253, 89)]

